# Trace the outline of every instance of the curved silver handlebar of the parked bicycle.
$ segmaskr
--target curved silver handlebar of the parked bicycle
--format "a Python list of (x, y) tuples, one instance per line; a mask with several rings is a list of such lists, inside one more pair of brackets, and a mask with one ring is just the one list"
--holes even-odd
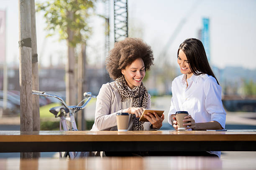
[(72, 109), (72, 110), (82, 110), (85, 108), (85, 106), (88, 104), (88, 102), (90, 102), (91, 98), (96, 98), (95, 95), (92, 95), (91, 92), (84, 92), (84, 97), (87, 97), (86, 102), (84, 102), (84, 104), (82, 106), (78, 106), (81, 102), (83, 102), (85, 99), (83, 99), (81, 102), (79, 102), (79, 104), (77, 106), (68, 106), (66, 102), (64, 102), (64, 100), (59, 97), (58, 95), (52, 95), (49, 94), (47, 92), (41, 92), (41, 91), (36, 91), (36, 90), (32, 90), (32, 94), (33, 95), (41, 95), (44, 97), (55, 97), (57, 99), (59, 99), (61, 101), (61, 103), (68, 109)]

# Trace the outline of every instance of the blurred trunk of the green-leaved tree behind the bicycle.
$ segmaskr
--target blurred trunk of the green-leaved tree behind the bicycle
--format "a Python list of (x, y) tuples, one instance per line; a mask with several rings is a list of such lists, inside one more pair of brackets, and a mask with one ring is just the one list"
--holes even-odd
[[(69, 11), (67, 17), (72, 20), (74, 12)], [(70, 44), (70, 41), (74, 38), (74, 31), (69, 27), (67, 28), (67, 45), (68, 45), (68, 60), (66, 64), (66, 102), (67, 105), (75, 105), (75, 82), (74, 82), (74, 47)]]

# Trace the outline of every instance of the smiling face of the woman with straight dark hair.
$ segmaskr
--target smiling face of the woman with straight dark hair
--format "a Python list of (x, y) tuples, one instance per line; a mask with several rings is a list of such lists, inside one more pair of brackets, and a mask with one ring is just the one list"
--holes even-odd
[(187, 61), (187, 57), (182, 50), (179, 50), (178, 64), (180, 67), (180, 72), (182, 74), (187, 74), (187, 78), (189, 78), (193, 75), (192, 71), (190, 70), (189, 63)]

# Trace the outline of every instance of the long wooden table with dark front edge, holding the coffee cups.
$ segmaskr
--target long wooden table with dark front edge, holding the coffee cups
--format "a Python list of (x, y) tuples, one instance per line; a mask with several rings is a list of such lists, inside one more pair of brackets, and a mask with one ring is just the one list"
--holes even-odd
[[(189, 146), (189, 147), (186, 147)], [(69, 149), (69, 150), (68, 150)], [(256, 151), (256, 130), (0, 131), (0, 152)]]

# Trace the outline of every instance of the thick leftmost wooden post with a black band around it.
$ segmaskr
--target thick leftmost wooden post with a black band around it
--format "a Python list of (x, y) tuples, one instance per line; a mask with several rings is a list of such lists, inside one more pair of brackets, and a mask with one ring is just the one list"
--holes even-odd
[[(20, 53), (20, 131), (32, 131), (32, 50), (31, 2), (19, 0)], [(32, 158), (32, 153), (20, 153), (20, 158)]]

